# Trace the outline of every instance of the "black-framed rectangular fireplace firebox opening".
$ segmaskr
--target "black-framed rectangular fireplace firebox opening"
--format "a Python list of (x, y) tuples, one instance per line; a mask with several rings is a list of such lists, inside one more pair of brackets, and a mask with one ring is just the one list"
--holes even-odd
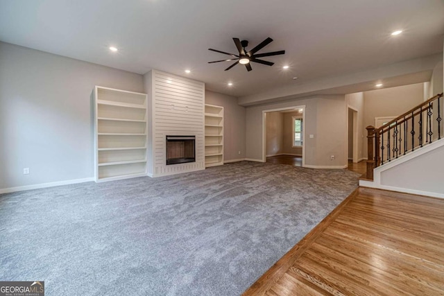
[(195, 136), (167, 136), (167, 166), (196, 162)]

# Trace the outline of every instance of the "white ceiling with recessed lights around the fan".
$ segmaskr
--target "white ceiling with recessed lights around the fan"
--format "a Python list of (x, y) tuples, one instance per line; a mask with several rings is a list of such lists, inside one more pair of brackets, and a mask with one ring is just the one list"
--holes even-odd
[[(443, 0), (0, 0), (3, 42), (135, 73), (159, 69), (232, 96), (440, 53), (443, 33)], [(207, 64), (228, 57), (209, 48), (237, 53), (232, 37), (247, 49), (271, 37), (259, 53), (286, 54), (250, 72)]]

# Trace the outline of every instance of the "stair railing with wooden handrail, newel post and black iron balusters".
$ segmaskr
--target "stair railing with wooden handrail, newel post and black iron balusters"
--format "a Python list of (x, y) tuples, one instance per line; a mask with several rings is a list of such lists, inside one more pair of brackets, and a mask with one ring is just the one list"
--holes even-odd
[[(367, 179), (373, 180), (373, 169), (406, 155), (443, 136), (443, 94), (388, 121), (379, 128), (367, 130)], [(374, 139), (374, 141), (373, 141)]]

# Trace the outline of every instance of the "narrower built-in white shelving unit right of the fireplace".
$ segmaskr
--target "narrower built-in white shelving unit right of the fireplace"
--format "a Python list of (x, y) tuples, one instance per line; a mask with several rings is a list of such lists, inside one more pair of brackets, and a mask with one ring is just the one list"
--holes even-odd
[(205, 167), (223, 164), (223, 107), (205, 104)]

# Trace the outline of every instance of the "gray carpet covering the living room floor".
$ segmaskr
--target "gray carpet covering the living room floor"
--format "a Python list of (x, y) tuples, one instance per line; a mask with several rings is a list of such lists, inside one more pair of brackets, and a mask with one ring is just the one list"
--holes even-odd
[(239, 162), (0, 195), (0, 281), (46, 295), (240, 295), (359, 174)]

